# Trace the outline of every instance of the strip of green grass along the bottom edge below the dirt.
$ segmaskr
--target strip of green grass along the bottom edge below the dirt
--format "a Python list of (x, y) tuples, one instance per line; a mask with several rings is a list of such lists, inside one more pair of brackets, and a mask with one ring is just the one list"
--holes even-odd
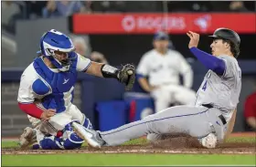
[(3, 166), (255, 164), (254, 155), (192, 154), (50, 154), (2, 155)]

